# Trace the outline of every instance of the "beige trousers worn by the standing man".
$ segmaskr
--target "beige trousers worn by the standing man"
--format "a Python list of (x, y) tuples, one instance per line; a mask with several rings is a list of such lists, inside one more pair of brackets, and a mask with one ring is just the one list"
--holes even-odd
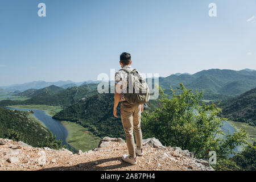
[(142, 149), (141, 105), (130, 105), (128, 102), (121, 102), (121, 119), (130, 158), (135, 158), (133, 129), (135, 131), (137, 149)]

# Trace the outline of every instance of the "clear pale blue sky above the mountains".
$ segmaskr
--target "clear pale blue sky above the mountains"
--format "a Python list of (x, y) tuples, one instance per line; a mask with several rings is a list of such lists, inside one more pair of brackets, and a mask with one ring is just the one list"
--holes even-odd
[(1, 0), (0, 25), (0, 85), (96, 80), (122, 52), (160, 76), (256, 69), (255, 0)]

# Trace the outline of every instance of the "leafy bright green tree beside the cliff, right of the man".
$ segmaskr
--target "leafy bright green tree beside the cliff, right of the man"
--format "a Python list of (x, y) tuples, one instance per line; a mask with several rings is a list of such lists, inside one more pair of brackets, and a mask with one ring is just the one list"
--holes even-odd
[(226, 159), (237, 145), (246, 143), (246, 131), (224, 134), (221, 130), (225, 118), (218, 117), (221, 109), (201, 102), (203, 92), (192, 92), (183, 84), (172, 90), (172, 98), (160, 88), (159, 108), (142, 116), (144, 137), (156, 137), (166, 146), (180, 147), (194, 152), (197, 158), (209, 158), (215, 151), (217, 159)]

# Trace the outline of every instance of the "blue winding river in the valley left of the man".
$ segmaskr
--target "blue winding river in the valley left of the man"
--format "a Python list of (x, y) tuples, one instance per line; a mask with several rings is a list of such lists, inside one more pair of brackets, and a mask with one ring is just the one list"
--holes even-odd
[(46, 127), (52, 132), (53, 136), (56, 136), (56, 139), (62, 140), (63, 145), (67, 145), (68, 148), (72, 148), (74, 152), (77, 152), (75, 148), (73, 148), (66, 142), (66, 139), (68, 137), (68, 130), (66, 129), (66, 127), (60, 121), (53, 119), (51, 115), (46, 114), (45, 111), (37, 109), (19, 109), (13, 107), (6, 107), (6, 109), (34, 111), (34, 117), (39, 121), (43, 122), (44, 125), (46, 125)]

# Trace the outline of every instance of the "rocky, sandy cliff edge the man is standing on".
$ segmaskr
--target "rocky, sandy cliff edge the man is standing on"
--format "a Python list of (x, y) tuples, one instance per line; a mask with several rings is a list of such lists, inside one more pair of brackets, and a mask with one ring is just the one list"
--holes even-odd
[(97, 148), (73, 154), (65, 148), (34, 148), (23, 142), (0, 138), (0, 171), (12, 170), (163, 170), (210, 171), (213, 168), (202, 159), (196, 159), (188, 150), (164, 147), (158, 139), (143, 140), (143, 156), (137, 157), (137, 165), (122, 161), (127, 154), (126, 143), (121, 138), (105, 137)]

